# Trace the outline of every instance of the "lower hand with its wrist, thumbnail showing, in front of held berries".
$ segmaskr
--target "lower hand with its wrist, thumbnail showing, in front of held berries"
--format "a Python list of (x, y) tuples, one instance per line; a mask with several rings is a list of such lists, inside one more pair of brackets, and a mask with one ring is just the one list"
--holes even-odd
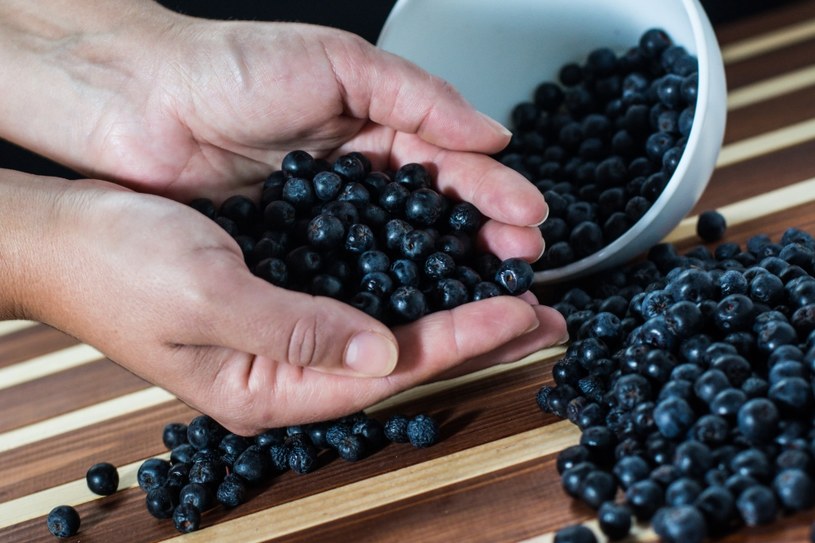
[[(64, 330), (237, 433), (347, 414), (463, 360), (509, 362), (564, 333), (553, 310), (508, 296), (391, 331), (254, 277), (225, 231), (169, 199), (101, 181), (0, 179), (4, 224), (42, 238), (0, 236), (4, 255), (42, 249), (0, 262), (2, 316)], [(379, 367), (347, 365), (360, 332), (385, 342), (359, 352)]]

